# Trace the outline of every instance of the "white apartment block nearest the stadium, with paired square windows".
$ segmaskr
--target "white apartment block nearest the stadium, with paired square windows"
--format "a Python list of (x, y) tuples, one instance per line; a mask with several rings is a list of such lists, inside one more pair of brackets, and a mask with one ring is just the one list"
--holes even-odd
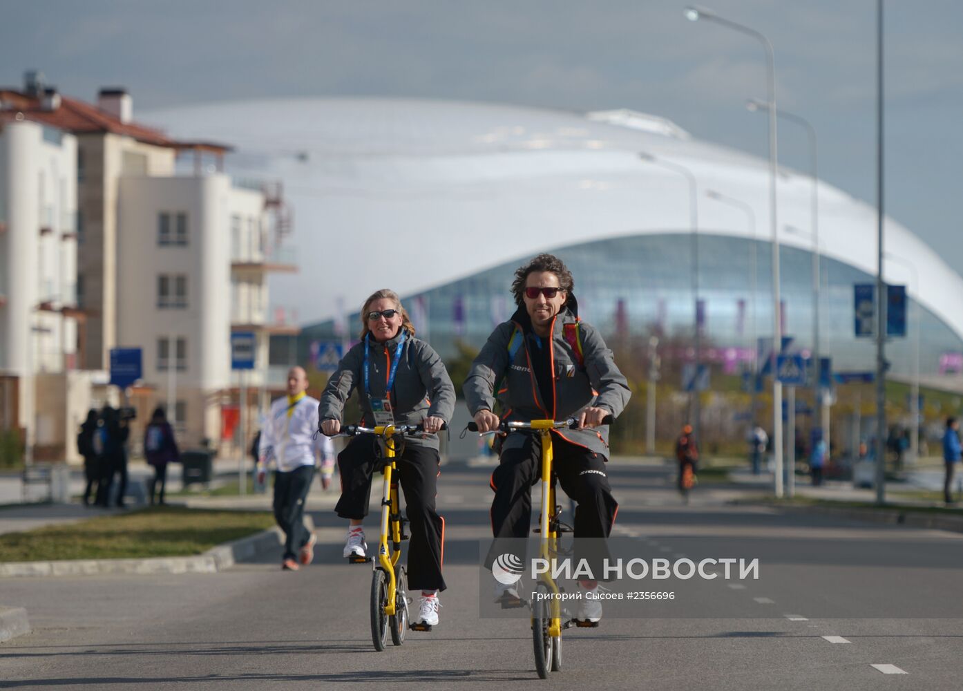
[(295, 268), (273, 250), (271, 199), (259, 185), (235, 184), (223, 173), (122, 176), (119, 185), (117, 339), (143, 347), (134, 404), (149, 415), (172, 402), (189, 443), (230, 443), (240, 384), (230, 334), (257, 333), (255, 369), (245, 383), (250, 430), (266, 403), (269, 334), (276, 331), (267, 273)]

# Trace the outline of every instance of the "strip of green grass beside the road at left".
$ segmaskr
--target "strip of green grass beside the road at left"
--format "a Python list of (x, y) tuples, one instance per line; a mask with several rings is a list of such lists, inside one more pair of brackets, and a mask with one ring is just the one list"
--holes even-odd
[(0, 535), (0, 562), (191, 556), (272, 525), (267, 513), (159, 506)]

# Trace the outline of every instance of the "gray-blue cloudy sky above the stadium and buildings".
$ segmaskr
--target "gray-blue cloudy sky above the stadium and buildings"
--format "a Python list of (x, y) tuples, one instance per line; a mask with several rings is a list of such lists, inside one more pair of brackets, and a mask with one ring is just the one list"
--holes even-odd
[[(685, 1), (0, 0), (0, 84), (39, 68), (138, 111), (260, 96), (399, 95), (574, 111), (628, 107), (766, 155), (760, 45)], [(820, 173), (875, 199), (874, 0), (713, 0), (775, 48), (781, 108), (811, 120)], [(963, 271), (963, 3), (886, 3), (886, 208)], [(806, 170), (801, 130), (780, 162)]]

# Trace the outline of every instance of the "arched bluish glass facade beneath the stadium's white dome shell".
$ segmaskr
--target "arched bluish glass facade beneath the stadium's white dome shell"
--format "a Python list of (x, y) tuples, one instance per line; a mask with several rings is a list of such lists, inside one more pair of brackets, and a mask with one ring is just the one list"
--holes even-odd
[[(582, 318), (607, 338), (647, 337), (659, 331), (691, 342), (695, 321), (691, 248), (688, 234), (646, 233), (552, 252), (574, 276)], [(771, 335), (771, 253), (771, 245), (764, 241), (710, 233), (698, 236), (703, 359), (726, 371), (751, 359), (754, 335)], [(808, 354), (813, 345), (812, 254), (784, 246), (780, 257), (783, 331), (794, 337), (792, 350)], [(509, 292), (512, 275), (528, 258), (515, 257), (464, 279), (404, 295), (404, 306), (419, 335), (446, 359), (455, 354), (458, 340), (481, 348), (494, 325), (514, 311)], [(820, 355), (831, 354), (836, 372), (874, 367), (872, 338), (857, 338), (853, 325), (853, 285), (872, 282), (872, 276), (852, 266), (820, 258)], [(372, 286), (372, 290), (378, 287), (385, 286)], [(920, 370), (924, 375), (935, 374), (946, 354), (963, 352), (963, 341), (929, 310), (909, 302), (907, 335), (891, 339), (887, 347), (891, 373), (911, 375), (919, 318)], [(358, 330), (355, 311), (348, 316), (348, 338), (356, 338)], [(312, 342), (341, 339), (339, 331), (343, 330), (336, 329), (333, 321), (305, 327), (299, 336), (299, 361), (310, 360)]]

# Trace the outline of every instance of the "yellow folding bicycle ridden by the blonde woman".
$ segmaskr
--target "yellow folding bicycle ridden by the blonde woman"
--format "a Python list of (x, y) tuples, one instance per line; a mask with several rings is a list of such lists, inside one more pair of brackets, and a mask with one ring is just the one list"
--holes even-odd
[[(442, 428), (444, 429), (444, 427)], [(396, 646), (404, 643), (404, 634), (408, 628), (415, 631), (430, 631), (431, 625), (417, 622), (412, 624), (408, 613), (411, 598), (407, 593), (407, 578), (402, 561), (402, 541), (408, 536), (404, 533), (401, 506), (398, 501), (398, 465), (395, 461), (402, 451), (403, 437), (424, 434), (421, 425), (384, 425), (377, 427), (362, 427), (349, 425), (343, 432), (334, 437), (355, 437), (357, 435), (374, 435), (381, 439), (384, 445), (384, 457), (381, 459), (381, 474), (384, 476), (384, 486), (381, 492), (381, 530), (378, 539), (377, 561), (370, 556), (351, 556), (351, 563), (372, 562), (373, 574), (371, 579), (371, 640), (376, 651), (383, 651), (388, 641), (388, 631), (391, 631), (391, 642)], [(390, 546), (389, 546), (390, 541)]]

